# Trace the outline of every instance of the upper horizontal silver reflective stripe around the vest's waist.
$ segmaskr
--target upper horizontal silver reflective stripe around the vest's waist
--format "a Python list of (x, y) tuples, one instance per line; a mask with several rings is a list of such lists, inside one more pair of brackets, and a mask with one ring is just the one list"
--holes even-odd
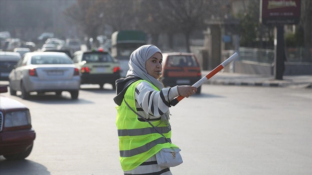
[[(167, 126), (164, 127), (157, 127), (157, 130), (161, 133), (168, 133), (171, 131), (171, 128), (168, 130)], [(141, 128), (141, 129), (124, 129), (118, 130), (118, 136), (136, 136), (136, 135), (146, 135), (146, 134), (153, 134), (158, 133), (154, 128)]]

